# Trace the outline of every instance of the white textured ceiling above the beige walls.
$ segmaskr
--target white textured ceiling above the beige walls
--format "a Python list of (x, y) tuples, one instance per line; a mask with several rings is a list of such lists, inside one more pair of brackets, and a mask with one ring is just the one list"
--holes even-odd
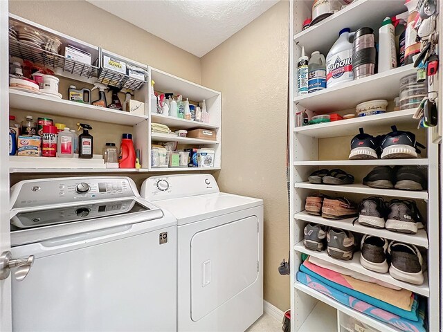
[(87, 0), (202, 57), (278, 0)]

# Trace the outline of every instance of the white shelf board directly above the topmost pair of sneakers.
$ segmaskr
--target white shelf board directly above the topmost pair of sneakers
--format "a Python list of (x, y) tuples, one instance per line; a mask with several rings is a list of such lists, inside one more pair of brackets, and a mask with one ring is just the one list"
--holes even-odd
[(417, 128), (418, 122), (413, 119), (414, 113), (415, 109), (404, 109), (375, 116), (310, 124), (308, 126), (296, 127), (293, 131), (314, 138), (328, 138), (356, 135), (361, 127), (367, 133), (390, 131), (390, 126), (393, 124), (399, 127), (399, 129)]

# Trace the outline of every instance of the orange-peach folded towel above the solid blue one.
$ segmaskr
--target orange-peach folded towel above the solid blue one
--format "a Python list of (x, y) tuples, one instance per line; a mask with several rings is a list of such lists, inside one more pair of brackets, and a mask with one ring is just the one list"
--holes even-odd
[[(309, 257), (309, 259), (303, 263), (303, 266), (311, 270), (313, 273), (316, 273), (318, 276), (324, 277), (325, 279), (331, 282), (334, 282), (336, 284), (349, 288), (350, 290), (361, 293), (362, 295), (359, 296), (359, 294), (350, 294), (347, 291), (341, 290), (343, 291), (343, 293), (350, 294), (358, 299), (362, 299), (365, 302), (372, 303), (370, 300), (364, 297), (364, 295), (368, 295), (374, 299), (379, 299), (380, 301), (385, 302), (386, 304), (392, 304), (392, 306), (396, 306), (397, 308), (401, 308), (405, 311), (412, 310), (414, 296), (411, 291), (408, 291), (406, 289), (402, 289), (401, 291), (394, 291), (393, 289), (379, 286), (377, 284), (371, 284), (370, 282), (362, 282), (361, 280), (354, 279), (353, 277), (342, 275), (341, 273), (336, 273), (332, 270), (328, 270), (327, 268), (316, 266), (315, 264), (312, 264), (311, 257)], [(303, 272), (306, 271), (303, 270)], [(307, 274), (310, 275), (309, 273)], [(316, 275), (312, 276), (317, 277)], [(333, 287), (336, 288), (335, 286)], [(375, 306), (378, 306), (375, 303), (373, 304)], [(386, 306), (386, 308), (383, 309), (390, 311), (390, 308), (388, 308), (388, 306)], [(397, 315), (400, 314), (397, 313)]]

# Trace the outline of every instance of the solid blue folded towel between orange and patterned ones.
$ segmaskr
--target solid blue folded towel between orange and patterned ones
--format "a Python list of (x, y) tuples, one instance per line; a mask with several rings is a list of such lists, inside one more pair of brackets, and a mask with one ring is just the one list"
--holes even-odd
[[(417, 305), (414, 307), (412, 306), (410, 311), (406, 311), (400, 308), (397, 308), (397, 306), (392, 306), (391, 304), (388, 304), (386, 302), (383, 302), (379, 299), (376, 299), (374, 297), (370, 297), (368, 295), (365, 295), (359, 291), (354, 291), (352, 288), (347, 288), (346, 286), (341, 286), (341, 284), (337, 284), (336, 282), (333, 282), (325, 277), (322, 277), (321, 275), (318, 275), (317, 273), (312, 272), (309, 270), (309, 268), (306, 268), (306, 266), (301, 265), (300, 266), (300, 272), (306, 273), (307, 275), (314, 277), (318, 281), (322, 282), (323, 284), (326, 284), (327, 286), (330, 286), (337, 291), (340, 291), (341, 293), (344, 293), (346, 295), (350, 295), (352, 297), (355, 297), (356, 299), (360, 299), (361, 301), (364, 301), (372, 306), (376, 306), (377, 308), (383, 309), (383, 311), (388, 311), (389, 313), (393, 313), (399, 317), (406, 318), (406, 320), (412, 320), (414, 322), (417, 322)], [(332, 271), (331, 271), (332, 272)]]

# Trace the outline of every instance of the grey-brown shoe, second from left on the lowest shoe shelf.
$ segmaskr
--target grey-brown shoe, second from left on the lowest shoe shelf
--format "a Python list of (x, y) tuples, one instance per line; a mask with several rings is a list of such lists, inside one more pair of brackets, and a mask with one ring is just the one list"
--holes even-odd
[(349, 230), (332, 228), (327, 232), (327, 255), (349, 261), (355, 249), (354, 235)]

